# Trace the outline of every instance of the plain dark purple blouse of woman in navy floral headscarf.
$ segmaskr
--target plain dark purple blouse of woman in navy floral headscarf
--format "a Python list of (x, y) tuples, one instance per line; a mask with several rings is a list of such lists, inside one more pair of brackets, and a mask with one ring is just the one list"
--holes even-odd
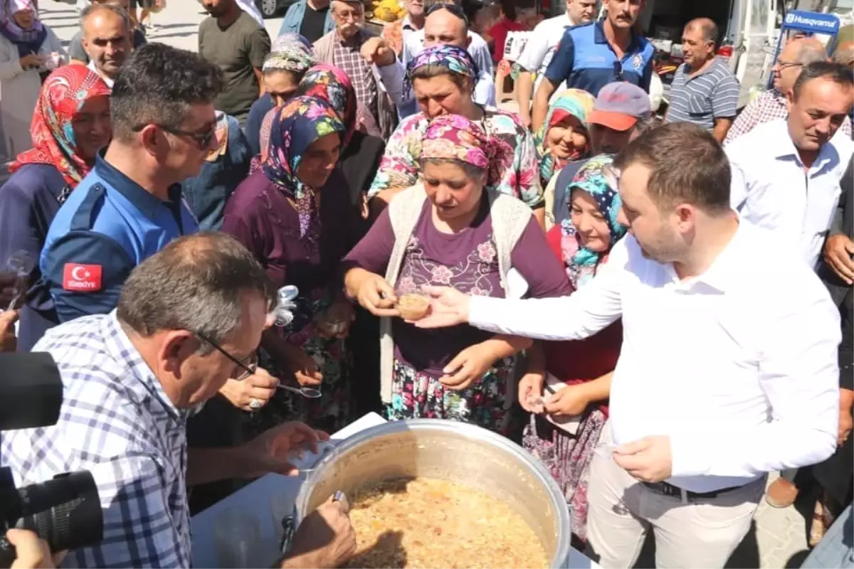
[(264, 265), (276, 286), (292, 284), (310, 295), (338, 278), (338, 264), (353, 246), (348, 185), (336, 168), (320, 190), (319, 247), (300, 239), (299, 216), (263, 172), (237, 186), (225, 205), (222, 230), (237, 237)]

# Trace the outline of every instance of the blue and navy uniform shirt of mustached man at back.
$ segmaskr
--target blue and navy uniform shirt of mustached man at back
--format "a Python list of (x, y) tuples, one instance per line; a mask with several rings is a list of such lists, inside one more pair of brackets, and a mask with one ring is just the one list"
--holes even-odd
[(614, 81), (628, 81), (648, 93), (655, 55), (652, 44), (632, 34), (632, 44), (620, 59), (608, 44), (602, 25), (594, 22), (567, 29), (546, 68), (546, 78), (553, 85), (566, 81), (567, 89), (586, 90), (593, 96)]

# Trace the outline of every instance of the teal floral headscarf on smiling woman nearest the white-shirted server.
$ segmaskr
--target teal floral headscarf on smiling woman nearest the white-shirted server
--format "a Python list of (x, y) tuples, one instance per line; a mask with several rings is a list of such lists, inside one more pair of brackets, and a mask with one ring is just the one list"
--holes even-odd
[[(599, 211), (605, 217), (608, 229), (611, 230), (611, 240), (608, 251), (614, 247), (614, 243), (626, 235), (625, 225), (617, 222), (617, 214), (620, 212), (620, 195), (616, 188), (611, 188), (605, 179), (605, 166), (611, 165), (614, 157), (611, 154), (599, 154), (594, 156), (581, 170), (572, 178), (566, 189), (566, 200), (571, 207), (572, 190), (581, 189), (587, 192), (596, 201)], [(566, 264), (566, 275), (570, 277), (572, 286), (579, 288), (587, 284), (596, 273), (596, 267), (603, 255), (607, 252), (598, 252), (582, 246), (576, 227), (571, 218), (566, 218), (560, 224), (562, 238), (560, 248)]]

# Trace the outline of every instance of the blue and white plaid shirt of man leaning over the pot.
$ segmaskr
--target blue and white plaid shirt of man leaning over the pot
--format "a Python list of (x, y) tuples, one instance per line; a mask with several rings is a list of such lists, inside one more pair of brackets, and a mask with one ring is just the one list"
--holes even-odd
[(186, 419), (115, 318), (85, 316), (51, 329), (33, 351), (56, 360), (59, 422), (2, 433), (3, 466), (27, 485), (89, 470), (104, 516), (100, 545), (67, 567), (190, 567)]

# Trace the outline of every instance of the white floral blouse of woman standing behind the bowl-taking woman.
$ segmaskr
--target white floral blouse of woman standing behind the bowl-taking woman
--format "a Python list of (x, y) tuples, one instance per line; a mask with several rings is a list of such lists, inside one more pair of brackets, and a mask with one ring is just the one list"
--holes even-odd
[[(368, 191), (369, 197), (384, 189), (409, 188), (418, 183), (418, 156), (429, 122), (424, 113), (415, 113), (401, 120), (386, 144), (377, 176)], [(503, 143), (512, 150), (512, 160), (498, 176), (489, 177), (486, 188), (512, 195), (532, 208), (542, 206), (539, 163), (530, 132), (519, 123), (516, 115), (494, 107), (483, 107), (483, 120), (476, 122), (480, 122), (491, 142)]]

